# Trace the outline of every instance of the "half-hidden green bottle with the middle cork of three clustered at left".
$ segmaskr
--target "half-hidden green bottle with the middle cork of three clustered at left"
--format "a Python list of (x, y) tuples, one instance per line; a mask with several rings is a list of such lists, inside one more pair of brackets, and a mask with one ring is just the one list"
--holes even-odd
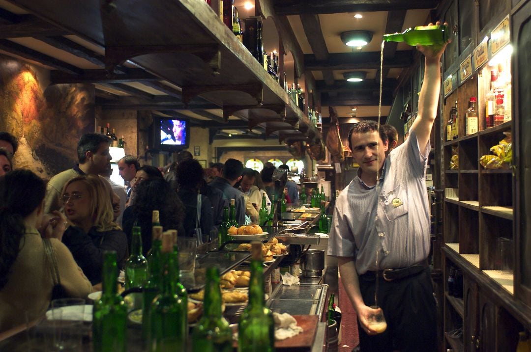
[[(151, 314), (151, 303), (159, 294), (161, 289), (160, 268), (162, 247), (162, 226), (153, 226), (151, 252), (148, 255), (148, 280), (142, 288), (142, 342), (147, 346), (150, 333), (151, 321), (148, 319)], [(145, 318), (144, 318), (145, 317)]]

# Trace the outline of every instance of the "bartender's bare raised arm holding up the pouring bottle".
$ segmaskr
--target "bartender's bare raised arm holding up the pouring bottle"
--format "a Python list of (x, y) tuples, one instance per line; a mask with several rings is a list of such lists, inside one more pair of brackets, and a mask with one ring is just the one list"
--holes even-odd
[[(431, 24), (431, 23), (430, 23)], [(440, 25), (440, 22), (436, 23)], [(441, 55), (448, 43), (440, 45), (417, 45), (418, 51), (425, 57), (424, 81), (418, 97), (418, 116), (412, 129), (417, 136), (419, 150), (424, 151), (430, 140), (433, 121), (437, 116), (439, 94), (441, 92)]]

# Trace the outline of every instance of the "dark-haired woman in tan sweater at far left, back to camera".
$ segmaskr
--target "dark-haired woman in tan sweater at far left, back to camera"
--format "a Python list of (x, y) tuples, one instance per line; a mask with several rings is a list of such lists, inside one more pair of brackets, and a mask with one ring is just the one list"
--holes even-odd
[[(29, 170), (0, 177), (0, 331), (44, 314), (50, 305), (54, 281), (52, 260), (37, 230), (43, 219), (46, 184)], [(65, 219), (54, 216), (48, 227), (59, 278), (66, 294), (84, 298), (90, 281), (61, 243)]]

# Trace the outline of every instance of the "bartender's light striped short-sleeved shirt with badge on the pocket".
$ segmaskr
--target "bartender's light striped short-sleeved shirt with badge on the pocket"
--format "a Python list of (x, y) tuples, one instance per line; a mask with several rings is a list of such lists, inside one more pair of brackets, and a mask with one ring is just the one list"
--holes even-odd
[[(384, 163), (378, 186), (358, 175), (341, 191), (333, 211), (328, 254), (356, 258), (358, 275), (378, 269), (403, 268), (430, 252), (430, 204), (426, 163), (430, 143), (421, 153), (415, 131)], [(379, 196), (376, 192), (379, 190)]]

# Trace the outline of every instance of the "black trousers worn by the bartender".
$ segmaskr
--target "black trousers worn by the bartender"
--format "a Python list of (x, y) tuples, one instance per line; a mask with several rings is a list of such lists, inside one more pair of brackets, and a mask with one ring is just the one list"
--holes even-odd
[[(359, 327), (362, 352), (435, 352), (437, 350), (436, 311), (430, 269), (399, 280), (378, 277), (378, 305), (387, 321), (387, 330), (367, 335)], [(360, 275), (359, 287), (365, 305), (374, 305), (375, 275)]]

